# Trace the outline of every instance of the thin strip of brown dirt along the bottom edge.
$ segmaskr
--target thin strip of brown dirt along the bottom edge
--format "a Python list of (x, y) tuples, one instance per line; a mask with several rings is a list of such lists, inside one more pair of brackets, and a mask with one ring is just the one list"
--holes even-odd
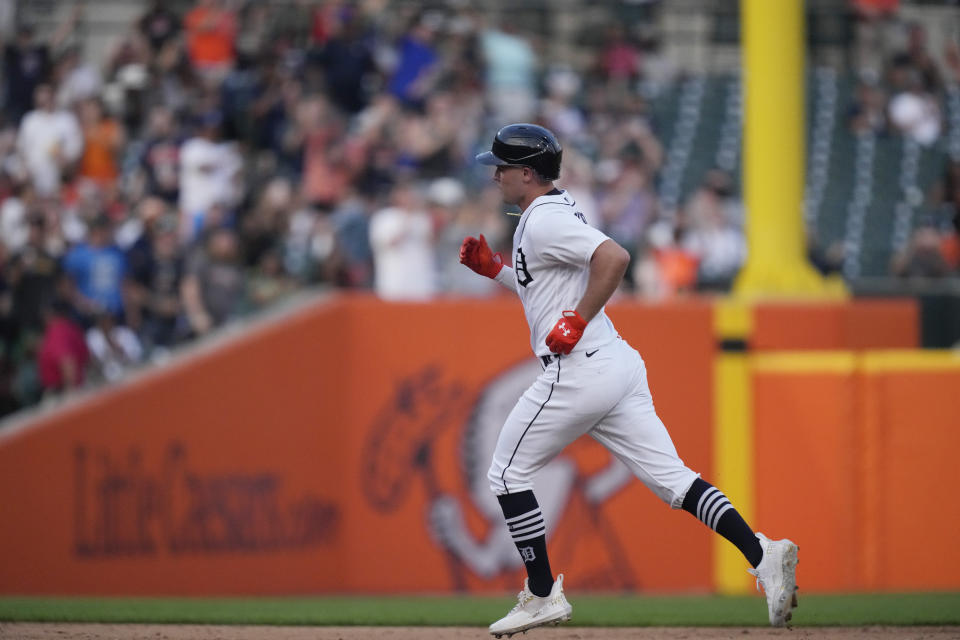
[[(481, 640), (478, 627), (263, 627), (151, 624), (0, 623), (0, 638), (16, 640)], [(865, 640), (960, 638), (960, 627), (566, 627), (537, 629), (514, 638), (530, 640)]]

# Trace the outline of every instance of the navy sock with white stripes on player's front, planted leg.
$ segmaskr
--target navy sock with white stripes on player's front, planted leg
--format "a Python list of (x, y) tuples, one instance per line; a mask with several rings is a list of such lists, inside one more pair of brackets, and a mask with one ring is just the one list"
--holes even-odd
[(553, 588), (553, 574), (547, 559), (547, 528), (540, 513), (540, 505), (533, 491), (497, 496), (503, 517), (507, 519), (510, 537), (527, 567), (530, 591), (544, 598)]

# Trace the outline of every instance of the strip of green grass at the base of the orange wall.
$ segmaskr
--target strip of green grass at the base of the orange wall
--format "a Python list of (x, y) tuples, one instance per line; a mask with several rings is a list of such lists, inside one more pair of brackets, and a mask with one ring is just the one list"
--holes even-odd
[[(762, 626), (762, 596), (572, 594), (582, 626)], [(508, 597), (34, 598), (0, 597), (0, 621), (274, 625), (477, 625)], [(802, 596), (797, 626), (957, 625), (960, 593)]]

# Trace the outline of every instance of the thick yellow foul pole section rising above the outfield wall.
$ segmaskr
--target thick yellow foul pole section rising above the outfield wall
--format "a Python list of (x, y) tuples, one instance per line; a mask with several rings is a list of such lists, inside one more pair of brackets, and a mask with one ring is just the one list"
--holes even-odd
[(738, 296), (826, 293), (806, 260), (803, 0), (741, 0), (747, 263)]

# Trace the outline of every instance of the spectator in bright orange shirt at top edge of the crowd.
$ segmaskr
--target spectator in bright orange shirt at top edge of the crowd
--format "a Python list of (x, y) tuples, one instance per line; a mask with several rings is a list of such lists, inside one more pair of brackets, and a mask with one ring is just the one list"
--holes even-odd
[(222, 0), (198, 0), (184, 19), (190, 62), (211, 81), (226, 76), (234, 62), (237, 18)]

